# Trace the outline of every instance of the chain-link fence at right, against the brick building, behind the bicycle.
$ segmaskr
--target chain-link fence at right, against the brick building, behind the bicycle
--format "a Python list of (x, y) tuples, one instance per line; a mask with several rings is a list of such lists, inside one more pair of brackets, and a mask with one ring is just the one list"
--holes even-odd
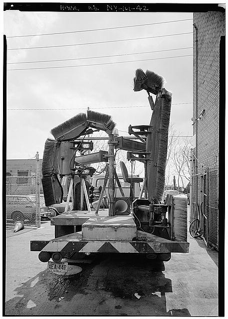
[(196, 174), (193, 160), (192, 173), (191, 220), (200, 219), (200, 229), (207, 246), (219, 250), (219, 168), (209, 167)]

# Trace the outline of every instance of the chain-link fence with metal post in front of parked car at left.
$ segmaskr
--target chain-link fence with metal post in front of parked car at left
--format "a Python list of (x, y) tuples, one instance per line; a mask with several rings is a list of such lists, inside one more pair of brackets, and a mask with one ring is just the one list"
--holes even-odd
[[(38, 155), (36, 160), (39, 164)], [(39, 174), (6, 176), (6, 224), (23, 221), (24, 225), (40, 227), (40, 211), (47, 209), (40, 185)]]

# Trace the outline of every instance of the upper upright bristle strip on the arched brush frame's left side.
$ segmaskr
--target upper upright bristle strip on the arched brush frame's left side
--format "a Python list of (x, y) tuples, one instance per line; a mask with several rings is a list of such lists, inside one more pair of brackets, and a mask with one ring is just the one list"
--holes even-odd
[(56, 141), (47, 139), (44, 144), (42, 169), (41, 169), (43, 176), (49, 175), (52, 173), (55, 148), (56, 148)]

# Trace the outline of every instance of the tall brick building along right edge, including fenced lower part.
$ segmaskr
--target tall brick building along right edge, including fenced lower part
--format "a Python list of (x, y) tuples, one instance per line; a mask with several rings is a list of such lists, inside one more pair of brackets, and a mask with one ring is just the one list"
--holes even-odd
[(195, 145), (191, 218), (200, 219), (207, 246), (219, 249), (219, 136), (221, 110), (225, 110), (224, 92), (221, 90), (225, 69), (225, 10), (196, 12), (193, 22)]

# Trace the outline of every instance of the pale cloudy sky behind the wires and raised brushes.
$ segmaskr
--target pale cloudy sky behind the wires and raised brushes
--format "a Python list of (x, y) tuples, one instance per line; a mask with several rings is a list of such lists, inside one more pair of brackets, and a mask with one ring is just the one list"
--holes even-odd
[[(12, 38), (10, 36), (110, 28), (191, 18), (192, 13), (4, 11), (4, 34), (8, 49), (79, 44), (192, 32), (193, 21), (56, 35)], [(128, 131), (129, 124), (148, 125), (151, 109), (147, 93), (144, 90), (133, 91), (133, 78), (137, 68), (142, 68), (144, 71), (149, 69), (166, 79), (166, 89), (173, 92), (171, 122), (181, 135), (192, 135), (192, 56), (183, 56), (192, 54), (192, 48), (187, 48), (192, 45), (192, 34), (183, 34), (121, 42), (8, 50), (8, 63), (89, 57), (90, 59), (8, 64), (7, 159), (32, 158), (36, 151), (42, 158), (44, 142), (50, 136), (50, 129), (79, 112), (86, 112), (87, 107), (112, 115), (117, 123), (119, 135), (127, 135), (121, 131)], [(177, 48), (187, 49), (100, 57)], [(161, 59), (172, 56), (181, 57)], [(159, 59), (152, 60), (157, 58)], [(79, 67), (79, 65), (142, 59), (151, 60)], [(53, 66), (77, 67), (9, 71), (16, 68)], [(67, 108), (75, 110), (40, 110)], [(38, 110), (20, 111), (20, 109)]]

